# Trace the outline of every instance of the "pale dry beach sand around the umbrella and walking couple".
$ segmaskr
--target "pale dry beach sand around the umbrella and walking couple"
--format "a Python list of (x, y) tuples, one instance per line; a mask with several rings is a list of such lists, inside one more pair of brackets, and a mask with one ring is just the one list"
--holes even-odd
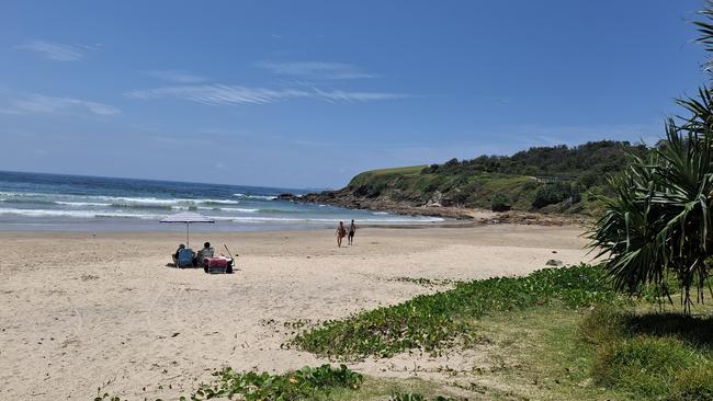
[[(0, 399), (87, 400), (98, 390), (171, 399), (226, 365), (321, 364), (281, 348), (292, 337), (285, 323), (445, 288), (398, 277), (463, 280), (588, 260), (577, 227), (364, 228), (342, 249), (332, 232), (194, 234), (195, 245), (227, 243), (241, 254), (233, 275), (168, 267), (184, 241), (176, 233), (0, 233)], [(449, 366), (477, 359), (459, 357)], [(418, 374), (409, 366), (438, 371), (442, 363), (400, 355), (353, 367), (405, 377)]]

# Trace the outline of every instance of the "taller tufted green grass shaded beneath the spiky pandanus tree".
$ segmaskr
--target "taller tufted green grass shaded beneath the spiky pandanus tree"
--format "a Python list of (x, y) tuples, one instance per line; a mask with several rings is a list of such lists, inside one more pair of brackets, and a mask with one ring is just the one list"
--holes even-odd
[(712, 317), (597, 308), (580, 323), (597, 382), (644, 398), (713, 400)]

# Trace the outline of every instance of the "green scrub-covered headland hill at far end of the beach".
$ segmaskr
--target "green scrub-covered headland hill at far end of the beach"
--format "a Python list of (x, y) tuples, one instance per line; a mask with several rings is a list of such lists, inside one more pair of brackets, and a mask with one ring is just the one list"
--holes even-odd
[(597, 195), (608, 191), (607, 177), (626, 167), (629, 154), (645, 157), (647, 152), (643, 145), (602, 140), (373, 170), (354, 176), (336, 198), (371, 205), (589, 214), (598, 208)]

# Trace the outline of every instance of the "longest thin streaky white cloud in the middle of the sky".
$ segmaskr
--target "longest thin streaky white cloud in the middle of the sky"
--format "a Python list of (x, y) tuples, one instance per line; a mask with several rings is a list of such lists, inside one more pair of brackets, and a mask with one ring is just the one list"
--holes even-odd
[(268, 104), (292, 99), (314, 99), (325, 102), (369, 102), (408, 98), (400, 93), (350, 92), (341, 90), (310, 90), (248, 88), (239, 85), (181, 85), (126, 92), (126, 96), (140, 100), (182, 99), (208, 105)]

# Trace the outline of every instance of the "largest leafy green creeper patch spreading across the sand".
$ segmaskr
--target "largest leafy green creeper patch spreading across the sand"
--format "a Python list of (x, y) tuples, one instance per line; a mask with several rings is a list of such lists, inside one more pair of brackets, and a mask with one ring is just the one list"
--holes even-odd
[(559, 302), (579, 308), (613, 302), (616, 297), (599, 267), (545, 268), (525, 277), (459, 283), (454, 289), (325, 322), (299, 334), (294, 343), (318, 355), (339, 358), (389, 357), (421, 348), (476, 340), (473, 319)]

